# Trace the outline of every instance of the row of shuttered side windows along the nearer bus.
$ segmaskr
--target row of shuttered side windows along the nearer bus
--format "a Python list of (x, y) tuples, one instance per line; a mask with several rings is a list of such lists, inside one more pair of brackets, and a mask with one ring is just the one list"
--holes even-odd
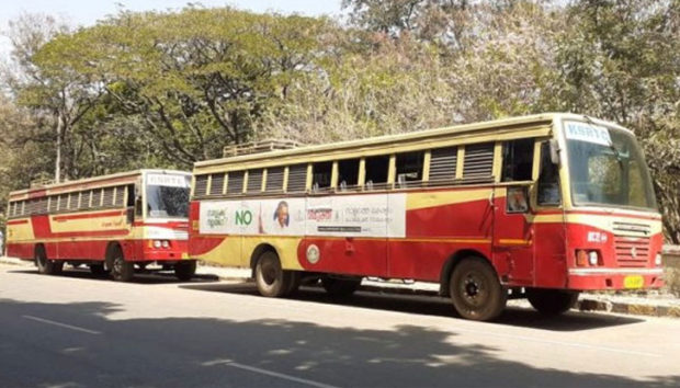
[[(534, 138), (500, 144), (502, 182), (530, 181)], [(194, 196), (355, 192), (495, 181), (496, 142), (197, 174)], [(458, 166), (461, 164), (461, 166)]]

